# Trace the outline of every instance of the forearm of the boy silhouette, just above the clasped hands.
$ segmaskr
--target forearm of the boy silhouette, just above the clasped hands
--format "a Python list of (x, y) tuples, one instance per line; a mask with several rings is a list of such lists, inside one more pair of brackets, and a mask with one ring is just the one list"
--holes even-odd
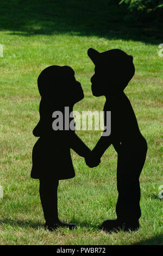
[(105, 150), (113, 143), (112, 136), (101, 136), (97, 142), (95, 148), (92, 150), (92, 155), (98, 158), (101, 158)]

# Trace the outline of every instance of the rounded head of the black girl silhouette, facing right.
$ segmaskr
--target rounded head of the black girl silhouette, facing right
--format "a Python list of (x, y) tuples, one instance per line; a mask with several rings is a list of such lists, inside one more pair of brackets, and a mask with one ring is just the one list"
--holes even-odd
[(49, 66), (38, 78), (40, 95), (58, 106), (74, 105), (84, 98), (80, 82), (70, 66)]

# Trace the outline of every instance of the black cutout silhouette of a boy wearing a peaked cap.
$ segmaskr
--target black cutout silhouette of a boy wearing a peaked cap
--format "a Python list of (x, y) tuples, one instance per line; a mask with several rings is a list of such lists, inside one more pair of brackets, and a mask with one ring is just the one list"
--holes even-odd
[(141, 135), (130, 101), (123, 92), (135, 73), (133, 57), (120, 49), (99, 53), (89, 48), (87, 54), (95, 64), (95, 74), (91, 78), (92, 94), (106, 97), (104, 125), (106, 112), (111, 111), (111, 133), (99, 139), (92, 150), (92, 158), (87, 159), (86, 163), (91, 167), (93, 159), (101, 158), (111, 144), (118, 153), (117, 218), (105, 220), (102, 228), (107, 231), (136, 230), (141, 216), (139, 176), (146, 159), (147, 142)]

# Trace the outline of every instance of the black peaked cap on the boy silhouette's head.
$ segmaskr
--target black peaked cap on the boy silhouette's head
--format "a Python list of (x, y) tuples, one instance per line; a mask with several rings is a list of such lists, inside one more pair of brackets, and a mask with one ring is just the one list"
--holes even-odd
[(128, 55), (126, 52), (120, 49), (111, 49), (105, 52), (98, 52), (93, 48), (89, 48), (87, 55), (90, 57), (92, 62), (97, 65), (99, 63), (129, 63), (133, 61), (133, 56)]

